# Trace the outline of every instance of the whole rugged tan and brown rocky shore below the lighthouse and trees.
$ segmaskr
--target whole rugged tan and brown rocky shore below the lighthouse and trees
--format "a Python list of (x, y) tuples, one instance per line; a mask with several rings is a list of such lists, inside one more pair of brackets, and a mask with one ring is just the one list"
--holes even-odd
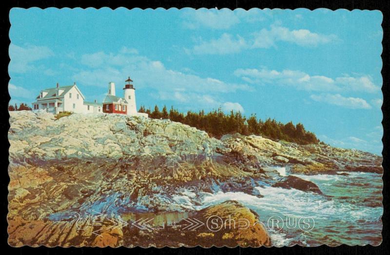
[[(256, 213), (235, 201), (204, 208), (202, 194), (244, 192), (261, 198), (255, 187), (267, 184), (321, 195), (314, 183), (286, 172), (383, 171), (382, 157), (368, 152), (254, 135), (217, 140), (169, 120), (115, 114), (56, 120), (32, 111), (10, 115), (7, 219), (13, 246), (270, 246), (263, 226), (252, 224)], [(91, 210), (104, 213), (103, 226), (77, 221), (91, 219)], [(130, 212), (188, 212), (204, 220), (211, 214), (222, 219), (240, 215), (251, 226), (218, 233), (205, 226), (185, 231), (110, 228), (109, 219)]]

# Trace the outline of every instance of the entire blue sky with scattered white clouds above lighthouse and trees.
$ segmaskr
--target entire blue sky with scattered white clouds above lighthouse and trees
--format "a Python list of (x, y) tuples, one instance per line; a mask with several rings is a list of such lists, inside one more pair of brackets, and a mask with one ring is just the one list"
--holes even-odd
[(76, 82), (99, 102), (240, 110), (301, 122), (332, 146), (382, 151), (382, 13), (317, 9), (13, 8), (11, 104)]

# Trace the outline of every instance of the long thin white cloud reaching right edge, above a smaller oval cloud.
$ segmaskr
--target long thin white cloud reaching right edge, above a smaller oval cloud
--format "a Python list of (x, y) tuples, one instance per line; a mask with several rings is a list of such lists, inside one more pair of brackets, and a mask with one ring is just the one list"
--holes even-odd
[(251, 84), (292, 86), (306, 91), (363, 91), (373, 93), (379, 91), (369, 76), (337, 77), (332, 79), (323, 75), (292, 70), (237, 69), (234, 74)]

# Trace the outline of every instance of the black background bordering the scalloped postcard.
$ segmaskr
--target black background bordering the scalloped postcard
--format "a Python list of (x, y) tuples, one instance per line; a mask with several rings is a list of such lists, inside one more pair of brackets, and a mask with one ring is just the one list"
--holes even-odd
[[(299, 0), (299, 1), (289, 1), (285, 2), (282, 0), (257, 0), (257, 1), (250, 1), (250, 0), (233, 0), (233, 1), (207, 1), (207, 0), (167, 0), (167, 1), (161, 1), (161, 0), (145, 0), (145, 1), (114, 1), (114, 0), (95, 0), (95, 1), (80, 1), (80, 0), (68, 0), (68, 1), (56, 1), (56, 0), (44, 0), (44, 1), (27, 1), (27, 0), (15, 0), (15, 1), (7, 1), (7, 2), (1, 2), (1, 24), (0, 24), (0, 41), (2, 42), (2, 47), (0, 51), (0, 58), (2, 60), (1, 62), (1, 86), (0, 86), (0, 145), (1, 145), (1, 153), (0, 153), (0, 212), (1, 212), (1, 218), (0, 218), (0, 245), (3, 247), (3, 249), (0, 250), (0, 252), (3, 252), (4, 254), (31, 254), (31, 253), (38, 253), (38, 254), (86, 254), (86, 253), (94, 253), (96, 255), (98, 254), (113, 254), (113, 253), (126, 253), (126, 254), (180, 254), (180, 255), (188, 255), (188, 254), (234, 254), (234, 255), (244, 255), (244, 254), (318, 254), (318, 255), (333, 255), (333, 254), (390, 254), (389, 250), (389, 205), (388, 205), (388, 193), (389, 188), (387, 187), (389, 183), (389, 158), (388, 158), (388, 148), (389, 148), (389, 6), (390, 1), (372, 1), (372, 0), (337, 0), (337, 1), (329, 1), (329, 0)], [(382, 60), (383, 60), (383, 69), (382, 69), (382, 76), (383, 76), (383, 129), (384, 129), (384, 136), (383, 136), (383, 167), (384, 167), (384, 175), (383, 175), (383, 181), (384, 181), (384, 188), (383, 188), (383, 206), (384, 206), (384, 214), (382, 217), (383, 220), (383, 242), (381, 245), (373, 247), (371, 245), (366, 246), (347, 246), (347, 245), (341, 245), (338, 247), (328, 247), (326, 245), (322, 245), (320, 247), (300, 247), (300, 246), (293, 246), (293, 247), (283, 247), (283, 248), (208, 248), (204, 249), (201, 247), (195, 247), (195, 248), (47, 248), (47, 247), (39, 247), (39, 248), (31, 248), (29, 246), (24, 246), (21, 248), (13, 248), (10, 247), (7, 243), (7, 195), (8, 195), (8, 182), (9, 182), (9, 176), (7, 172), (8, 168), (8, 128), (9, 128), (9, 114), (8, 114), (8, 102), (10, 100), (10, 96), (8, 93), (8, 82), (9, 82), (9, 75), (8, 75), (8, 63), (9, 63), (9, 56), (8, 56), (8, 47), (10, 44), (10, 39), (8, 37), (8, 32), (10, 28), (10, 22), (9, 22), (9, 10), (12, 7), (21, 7), (21, 8), (29, 8), (29, 7), (40, 7), (40, 8), (47, 8), (47, 7), (69, 7), (69, 8), (75, 8), (75, 7), (81, 7), (81, 8), (87, 8), (87, 7), (95, 7), (95, 8), (101, 8), (101, 7), (111, 7), (112, 9), (115, 9), (117, 7), (127, 7), (129, 9), (131, 8), (157, 8), (157, 7), (163, 7), (163, 8), (184, 8), (184, 7), (192, 7), (192, 8), (215, 8), (218, 9), (221, 8), (243, 8), (243, 9), (250, 9), (250, 8), (280, 8), (280, 9), (296, 9), (296, 8), (308, 8), (311, 10), (314, 10), (316, 8), (328, 8), (331, 10), (336, 9), (367, 9), (367, 10), (380, 10), (383, 13), (383, 53), (382, 53)]]

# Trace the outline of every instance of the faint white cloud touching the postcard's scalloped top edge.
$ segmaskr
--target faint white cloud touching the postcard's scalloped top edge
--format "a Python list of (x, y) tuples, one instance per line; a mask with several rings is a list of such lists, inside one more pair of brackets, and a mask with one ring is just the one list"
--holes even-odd
[(235, 13), (229, 9), (186, 11), (183, 16), (186, 28), (197, 29), (207, 27), (212, 29), (228, 29), (240, 22)]

